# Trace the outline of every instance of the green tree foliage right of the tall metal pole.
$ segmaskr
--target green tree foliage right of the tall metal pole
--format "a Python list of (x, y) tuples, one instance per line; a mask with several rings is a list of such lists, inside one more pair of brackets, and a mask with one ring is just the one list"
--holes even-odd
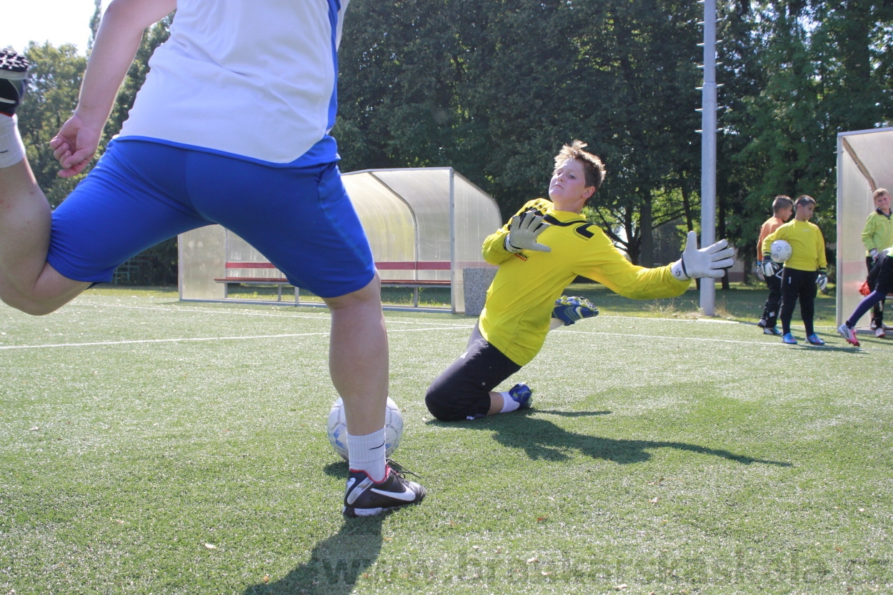
[[(730, 2), (722, 37), (724, 103), (718, 193), (730, 238), (754, 257), (772, 197), (808, 194), (813, 221), (836, 240), (841, 130), (893, 122), (893, 7), (874, 2)], [(854, 231), (855, 232), (855, 231)]]

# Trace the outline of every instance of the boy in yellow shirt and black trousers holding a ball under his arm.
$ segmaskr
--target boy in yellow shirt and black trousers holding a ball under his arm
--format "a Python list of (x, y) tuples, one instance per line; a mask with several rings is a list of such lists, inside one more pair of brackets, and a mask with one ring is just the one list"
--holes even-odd
[(797, 345), (790, 331), (790, 319), (794, 306), (800, 300), (800, 316), (806, 330), (806, 340), (811, 345), (824, 345), (813, 328), (816, 289), (825, 289), (828, 284), (828, 261), (825, 257), (825, 239), (818, 225), (809, 219), (815, 212), (815, 199), (802, 195), (794, 203), (794, 221), (787, 222), (763, 240), (764, 273), (768, 277), (778, 264), (772, 262), (770, 252), (772, 242), (784, 239), (793, 249), (792, 256), (781, 271), (781, 340), (789, 345)]

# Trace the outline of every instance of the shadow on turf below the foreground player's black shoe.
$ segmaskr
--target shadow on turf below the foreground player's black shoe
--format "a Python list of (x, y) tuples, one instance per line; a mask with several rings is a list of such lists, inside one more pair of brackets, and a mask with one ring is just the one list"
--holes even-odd
[(316, 544), (310, 559), (278, 581), (255, 584), (243, 595), (341, 595), (354, 591), (355, 582), (381, 553), (381, 524), (387, 514), (346, 518), (334, 535)]

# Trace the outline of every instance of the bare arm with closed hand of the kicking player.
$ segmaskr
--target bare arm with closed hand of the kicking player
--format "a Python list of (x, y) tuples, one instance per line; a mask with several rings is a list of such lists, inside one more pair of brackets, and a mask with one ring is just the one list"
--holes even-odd
[(143, 31), (177, 8), (177, 0), (113, 0), (105, 9), (90, 54), (78, 107), (50, 141), (53, 156), (70, 178), (87, 167), (112, 113), (121, 81), (137, 55)]

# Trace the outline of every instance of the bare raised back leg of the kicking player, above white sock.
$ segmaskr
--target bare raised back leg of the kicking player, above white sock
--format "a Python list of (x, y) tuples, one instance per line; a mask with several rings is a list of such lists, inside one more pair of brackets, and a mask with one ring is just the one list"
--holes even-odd
[(0, 168), (0, 299), (48, 314), (89, 287), (46, 263), (51, 215), (28, 161)]

